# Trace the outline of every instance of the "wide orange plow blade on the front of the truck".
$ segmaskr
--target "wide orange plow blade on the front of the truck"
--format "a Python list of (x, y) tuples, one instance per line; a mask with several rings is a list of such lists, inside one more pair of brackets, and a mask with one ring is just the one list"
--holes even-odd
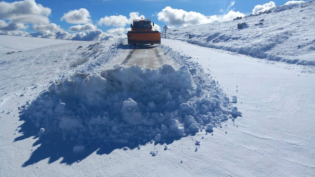
[(128, 44), (160, 44), (159, 31), (128, 31)]

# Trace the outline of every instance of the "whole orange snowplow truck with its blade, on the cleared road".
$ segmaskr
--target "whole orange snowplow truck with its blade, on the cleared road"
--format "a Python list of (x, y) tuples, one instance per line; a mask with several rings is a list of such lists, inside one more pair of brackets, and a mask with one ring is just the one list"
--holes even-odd
[(130, 24), (131, 31), (127, 32), (128, 44), (160, 44), (161, 33), (152, 31), (151, 19), (134, 19)]

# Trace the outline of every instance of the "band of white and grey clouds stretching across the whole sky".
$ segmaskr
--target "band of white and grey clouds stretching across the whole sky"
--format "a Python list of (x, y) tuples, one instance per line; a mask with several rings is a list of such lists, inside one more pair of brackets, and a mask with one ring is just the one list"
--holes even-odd
[[(285, 5), (302, 3), (304, 1), (288, 1)], [(235, 11), (232, 7), (235, 1), (231, 1), (226, 10), (220, 10), (223, 14), (206, 16), (195, 11), (185, 11), (174, 9), (170, 6), (165, 7), (156, 14), (160, 22), (167, 23), (170, 28), (201, 25), (216, 21), (232, 20), (245, 14)], [(252, 10), (253, 14), (266, 11), (276, 4), (272, 1), (263, 5), (256, 5)], [(139, 12), (130, 12), (129, 17), (124, 15), (104, 16), (99, 20), (92, 20), (88, 9), (80, 8), (69, 10), (61, 14), (61, 21), (73, 24), (69, 29), (63, 29), (60, 25), (51, 23), (49, 16), (52, 9), (36, 3), (35, 0), (22, 0), (8, 3), (0, 2), (0, 35), (43, 37), (64, 40), (115, 40), (125, 38), (127, 31), (130, 30), (129, 23), (133, 19), (145, 18)], [(96, 21), (96, 22), (95, 22)], [(112, 27), (103, 32), (96, 25)], [(34, 32), (28, 32), (33, 30)], [(157, 24), (153, 30), (160, 31)], [(71, 33), (73, 32), (73, 33)]]

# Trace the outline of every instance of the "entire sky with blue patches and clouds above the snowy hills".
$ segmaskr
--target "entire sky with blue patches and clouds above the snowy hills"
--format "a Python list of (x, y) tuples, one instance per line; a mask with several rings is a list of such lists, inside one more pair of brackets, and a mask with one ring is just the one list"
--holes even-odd
[[(263, 6), (256, 9), (264, 11), (266, 8), (268, 9), (275, 5), (284, 5), (288, 2), (288, 0), (273, 0), (272, 2), (268, 0), (24, 1), (20, 3), (22, 4), (20, 6), (17, 5), (18, 3), (14, 3), (14, 0), (0, 2), (0, 34), (70, 39), (71, 37), (82, 37), (84, 35), (83, 33), (88, 35), (97, 29), (99, 31), (95, 31), (95, 34), (93, 34), (94, 38), (91, 38), (91, 40), (95, 40), (97, 35), (99, 35), (97, 39), (109, 39), (112, 37), (117, 38), (118, 36), (124, 37), (124, 35), (120, 33), (125, 34), (126, 31), (129, 30), (128, 27), (132, 22), (129, 19), (130, 12), (139, 12), (139, 14), (137, 14), (138, 17), (144, 15), (146, 18), (151, 18), (152, 22), (155, 22), (161, 28), (163, 28), (164, 25), (180, 27), (231, 20), (237, 16), (249, 15), (253, 13), (254, 7), (258, 4)], [(39, 4), (43, 7), (40, 7), (41, 5)], [(6, 11), (10, 9), (11, 6), (17, 8), (17, 10)], [(35, 8), (33, 8), (33, 6)], [(32, 8), (35, 10), (37, 8), (40, 12), (37, 13), (34, 12), (34, 10), (30, 10)], [(51, 9), (50, 13), (48, 8)], [(81, 8), (84, 10), (77, 12)], [(255, 10), (255, 12), (257, 10)], [(65, 13), (69, 11), (85, 14), (85, 20), (69, 20), (69, 18), (72, 18), (71, 15), (74, 15), (73, 13), (69, 13), (68, 16), (63, 17)], [(21, 12), (25, 12), (26, 14), (21, 14)], [(178, 16), (183, 16), (183, 14), (186, 16), (186, 19), (178, 19)], [(108, 18), (105, 18), (106, 16)], [(26, 20), (28, 17), (30, 19)], [(61, 20), (61, 18), (63, 18), (63, 20)], [(104, 19), (101, 20), (101, 18)], [(78, 24), (81, 24), (81, 26), (77, 26)], [(84, 24), (88, 25), (82, 26)], [(71, 30), (70, 27), (72, 27)], [(156, 30), (158, 30), (158, 27)], [(58, 35), (58, 31), (63, 31), (62, 35), (60, 33), (58, 33), (60, 34)], [(78, 34), (78, 32), (81, 33)], [(86, 40), (90, 40), (90, 38), (87, 37)]]

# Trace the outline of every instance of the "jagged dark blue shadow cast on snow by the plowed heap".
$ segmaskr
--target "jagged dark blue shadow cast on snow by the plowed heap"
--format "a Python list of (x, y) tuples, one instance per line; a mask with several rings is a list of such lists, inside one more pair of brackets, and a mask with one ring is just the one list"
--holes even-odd
[[(138, 147), (138, 144), (94, 144), (93, 146), (85, 146), (85, 149), (80, 153), (74, 153), (73, 152), (73, 146), (76, 145), (76, 143), (72, 143), (69, 141), (62, 140), (62, 137), (58, 136), (48, 136), (43, 135), (39, 137), (38, 134), (38, 128), (35, 127), (34, 123), (28, 119), (26, 116), (20, 113), (20, 119), (19, 121), (25, 121), (23, 124), (19, 126), (21, 128), (19, 130), (19, 133), (22, 133), (23, 135), (16, 137), (14, 139), (14, 142), (24, 140), (30, 137), (33, 137), (32, 139), (37, 139), (35, 143), (33, 143), (32, 147), (35, 147), (37, 145), (40, 145), (37, 147), (36, 150), (31, 151), (31, 157), (22, 164), (22, 167), (27, 167), (29, 165), (32, 165), (33, 163), (37, 163), (41, 160), (44, 160), (46, 158), (49, 158), (48, 163), (53, 163), (57, 161), (60, 158), (63, 158), (63, 160), (60, 163), (66, 163), (67, 165), (71, 165), (72, 163), (77, 162), (78, 160), (83, 160), (92, 153), (96, 151), (96, 154), (103, 155), (103, 154), (110, 154), (115, 149), (122, 149), (123, 147), (127, 146), (129, 149), (135, 149)], [(166, 140), (166, 144), (171, 144), (175, 140), (179, 140), (179, 138), (169, 138)], [(145, 146), (147, 143), (141, 144), (142, 146)], [(157, 145), (159, 143), (154, 143), (154, 145)]]

